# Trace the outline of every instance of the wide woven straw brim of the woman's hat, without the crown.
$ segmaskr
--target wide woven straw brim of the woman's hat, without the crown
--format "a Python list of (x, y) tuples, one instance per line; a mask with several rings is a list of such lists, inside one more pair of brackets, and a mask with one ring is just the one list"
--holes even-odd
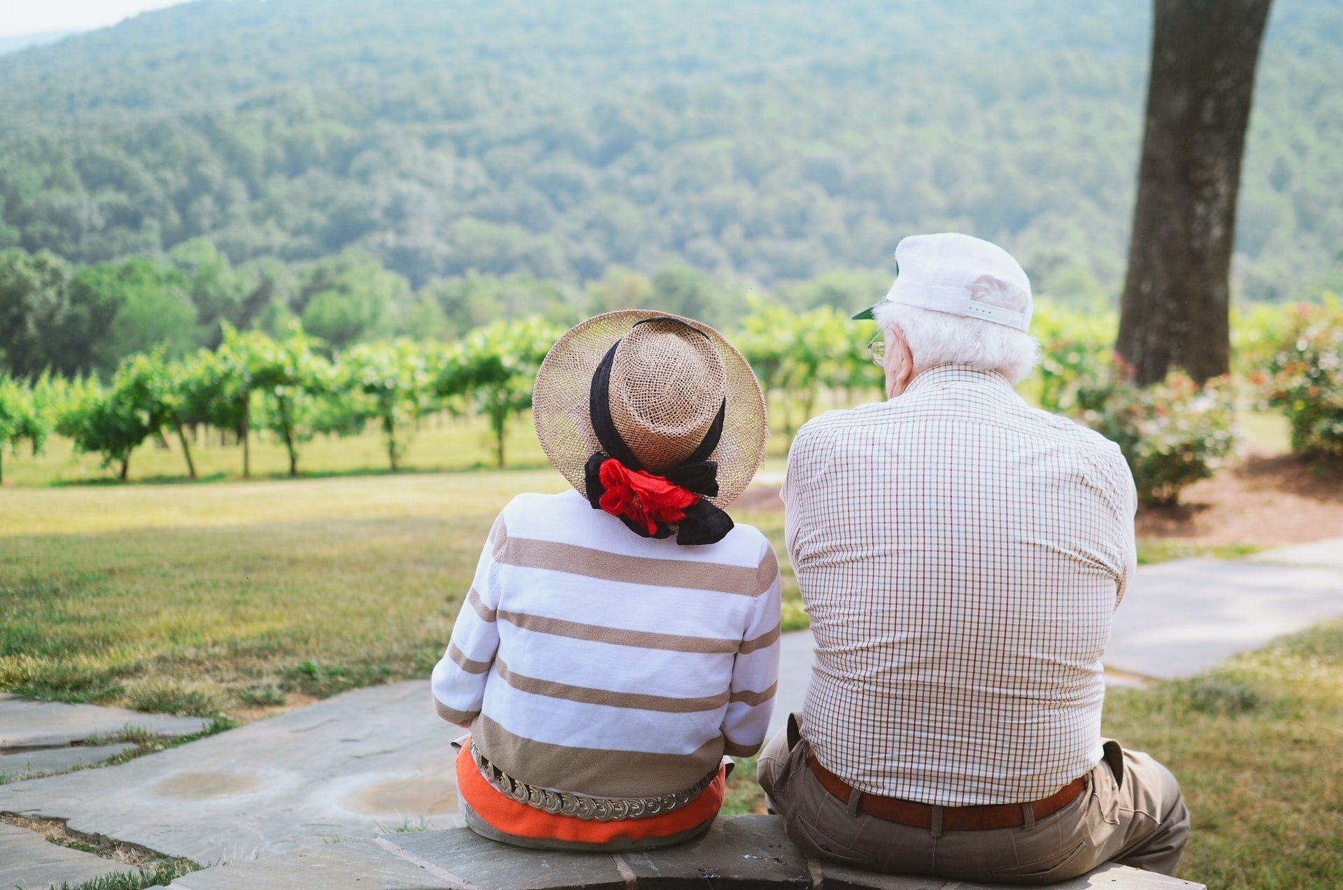
[(588, 414), (592, 374), (618, 340), (637, 323), (649, 319), (676, 319), (702, 331), (723, 360), (727, 410), (723, 438), (709, 456), (719, 464), (719, 495), (705, 500), (725, 507), (745, 491), (764, 461), (764, 445), (770, 436), (764, 393), (741, 352), (721, 333), (694, 319), (650, 309), (622, 309), (594, 316), (571, 328), (551, 347), (536, 374), (532, 390), (536, 437), (555, 469), (586, 496), (583, 468), (590, 456), (602, 450)]

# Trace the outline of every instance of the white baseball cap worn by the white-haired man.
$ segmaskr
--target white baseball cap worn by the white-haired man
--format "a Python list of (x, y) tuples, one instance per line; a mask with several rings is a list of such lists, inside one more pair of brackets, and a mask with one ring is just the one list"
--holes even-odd
[[(975, 292), (1007, 297), (1021, 312), (974, 298)], [(896, 245), (896, 281), (886, 298), (854, 319), (874, 319), (882, 304), (896, 302), (933, 312), (982, 319), (1009, 328), (1030, 328), (1030, 278), (1011, 254), (970, 235), (909, 235)], [(997, 300), (995, 300), (997, 302)]]

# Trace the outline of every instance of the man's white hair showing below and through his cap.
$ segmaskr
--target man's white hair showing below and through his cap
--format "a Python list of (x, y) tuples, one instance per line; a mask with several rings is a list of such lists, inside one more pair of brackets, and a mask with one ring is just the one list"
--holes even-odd
[[(1015, 289), (995, 288), (991, 280), (976, 282), (970, 298), (1014, 312), (1030, 308), (1030, 297)], [(1015, 386), (1026, 379), (1039, 358), (1035, 337), (1005, 324), (898, 302), (880, 304), (876, 316), (882, 331), (898, 327), (905, 335), (915, 359), (915, 374), (955, 362), (980, 371), (998, 371)]]

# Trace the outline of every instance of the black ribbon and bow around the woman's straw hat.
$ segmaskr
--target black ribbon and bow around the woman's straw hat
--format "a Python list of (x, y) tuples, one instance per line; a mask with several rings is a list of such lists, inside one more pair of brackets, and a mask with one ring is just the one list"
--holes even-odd
[[(677, 324), (685, 324), (680, 319), (645, 319), (645, 321), (676, 321)], [(643, 324), (645, 321), (639, 321), (638, 324)], [(692, 325), (685, 327), (701, 336), (708, 336), (698, 328)], [(616, 341), (607, 351), (606, 356), (602, 358), (600, 364), (596, 366), (588, 398), (588, 417), (592, 422), (592, 432), (596, 434), (596, 441), (602, 445), (602, 452), (588, 457), (583, 468), (587, 497), (588, 503), (592, 504), (592, 510), (602, 510), (599, 501), (602, 495), (606, 493), (606, 485), (602, 484), (600, 471), (602, 464), (606, 461), (615, 460), (626, 469), (645, 472), (650, 476), (659, 475), (650, 471), (634, 456), (634, 452), (620, 438), (620, 432), (615, 429), (615, 423), (611, 421), (611, 366), (615, 363), (615, 351), (619, 346), (620, 343)], [(719, 446), (719, 441), (723, 438), (723, 422), (727, 417), (727, 409), (728, 401), (723, 399), (717, 417), (713, 418), (709, 432), (704, 434), (704, 440), (694, 452), (676, 467), (661, 473), (662, 479), (666, 479), (673, 485), (680, 485), (700, 495), (698, 503), (686, 507), (684, 510), (685, 518), (677, 523), (676, 542), (678, 544), (712, 544), (723, 540), (732, 531), (732, 518), (721, 508), (705, 500), (706, 497), (716, 497), (719, 493), (719, 464), (709, 460), (709, 454), (713, 453), (713, 449)], [(618, 519), (641, 538), (670, 538), (673, 534), (666, 523), (657, 523), (657, 532), (650, 535), (647, 528), (627, 516), (618, 516)]]

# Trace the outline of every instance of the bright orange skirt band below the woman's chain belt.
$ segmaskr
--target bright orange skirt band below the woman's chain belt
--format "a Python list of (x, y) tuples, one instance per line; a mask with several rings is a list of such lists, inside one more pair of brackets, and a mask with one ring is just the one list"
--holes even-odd
[(518, 838), (537, 838), (600, 844), (618, 838), (645, 840), (666, 838), (712, 819), (723, 807), (723, 789), (727, 785), (723, 768), (709, 786), (700, 792), (681, 809), (645, 819), (623, 819), (612, 821), (587, 821), (576, 816), (548, 813), (513, 800), (494, 785), (485, 781), (475, 766), (470, 746), (462, 745), (457, 754), (457, 788), (462, 799), (470, 804), (475, 815), (492, 828)]

